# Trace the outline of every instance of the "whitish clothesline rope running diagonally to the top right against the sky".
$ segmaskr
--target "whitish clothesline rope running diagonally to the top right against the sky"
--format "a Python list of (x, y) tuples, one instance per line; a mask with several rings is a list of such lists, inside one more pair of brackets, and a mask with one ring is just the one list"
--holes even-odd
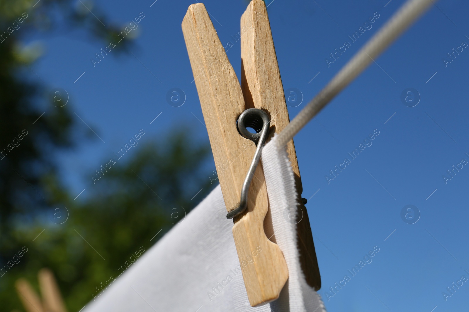
[[(435, 0), (437, 1), (437, 0)], [(355, 56), (337, 73), (304, 109), (278, 135), (277, 146), (287, 145), (313, 116), (325, 107), (350, 81), (354, 80), (384, 51), (412, 22), (434, 3), (432, 0), (408, 0), (386, 24), (379, 29)]]

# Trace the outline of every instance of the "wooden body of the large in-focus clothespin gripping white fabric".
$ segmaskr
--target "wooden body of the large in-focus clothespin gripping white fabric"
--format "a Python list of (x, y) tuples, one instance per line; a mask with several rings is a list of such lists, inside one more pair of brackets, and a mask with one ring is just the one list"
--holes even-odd
[[(204, 4), (189, 6), (182, 21), (182, 32), (223, 198), (230, 211), (240, 202), (242, 184), (256, 151), (254, 142), (238, 132), (238, 117), (249, 108), (264, 110), (270, 117), (270, 136), (289, 123), (265, 3), (262, 0), (251, 1), (241, 18), (241, 86)], [(293, 140), (288, 143), (287, 152), (301, 196), (302, 185)], [(264, 172), (259, 165), (250, 184), (247, 210), (234, 218), (233, 226), (234, 242), (251, 306), (277, 299), (288, 278), (287, 264), (275, 244), (268, 208)], [(321, 282), (310, 223), (303, 204), (299, 204), (299, 209), (303, 212), (303, 218), (297, 224), (300, 262), (308, 284), (318, 290)], [(254, 261), (244, 266), (243, 263), (254, 254)]]

